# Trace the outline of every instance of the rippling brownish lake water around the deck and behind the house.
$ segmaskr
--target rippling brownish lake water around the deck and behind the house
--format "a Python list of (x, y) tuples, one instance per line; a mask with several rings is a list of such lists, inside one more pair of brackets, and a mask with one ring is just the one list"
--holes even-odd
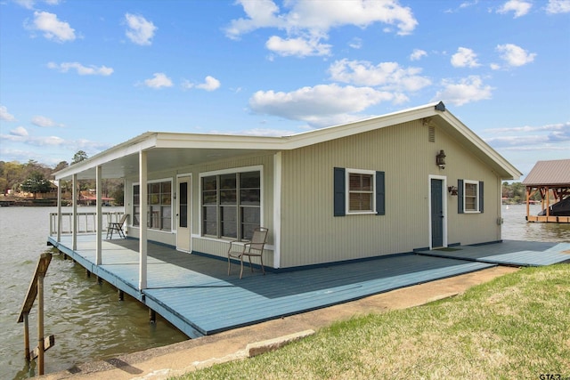
[[(81, 212), (93, 211), (81, 207)], [(16, 323), (38, 256), (46, 247), (49, 213), (55, 207), (0, 207), (0, 378), (36, 376), (36, 364), (24, 360), (23, 324)], [(106, 207), (105, 211), (122, 211)], [(532, 214), (540, 211), (532, 206)], [(63, 212), (70, 210), (63, 208)], [(503, 239), (570, 241), (570, 224), (527, 223), (525, 206), (503, 206)], [(37, 345), (37, 304), (29, 316), (30, 345)], [(45, 277), (45, 336), (55, 345), (45, 353), (45, 373), (75, 364), (104, 360), (120, 353), (174, 344), (187, 339), (157, 316), (149, 323), (148, 309), (117, 290), (87, 278), (85, 269), (62, 255), (53, 255)]]

